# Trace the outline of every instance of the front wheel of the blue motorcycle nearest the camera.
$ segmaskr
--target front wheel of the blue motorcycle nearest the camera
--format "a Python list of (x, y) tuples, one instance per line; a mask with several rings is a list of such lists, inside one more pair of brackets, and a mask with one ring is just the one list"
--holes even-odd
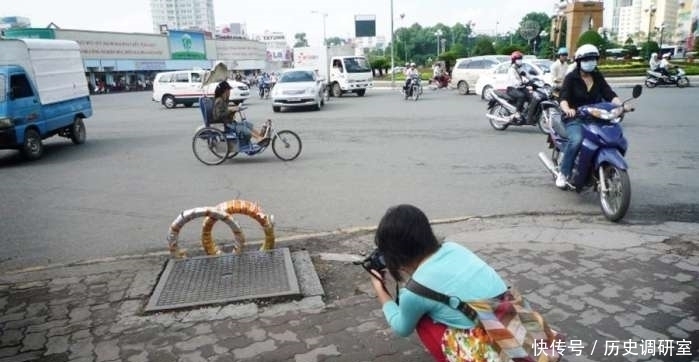
[(629, 209), (631, 202), (631, 181), (629, 174), (616, 166), (604, 164), (601, 166), (607, 181), (607, 191), (602, 192), (600, 185), (599, 201), (604, 217), (609, 221), (619, 221)]

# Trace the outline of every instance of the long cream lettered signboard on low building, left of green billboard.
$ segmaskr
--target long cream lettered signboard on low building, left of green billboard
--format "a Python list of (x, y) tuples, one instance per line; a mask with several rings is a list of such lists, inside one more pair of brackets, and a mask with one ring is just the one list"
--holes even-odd
[(83, 58), (169, 59), (167, 37), (159, 34), (129, 34), (56, 29), (56, 39), (75, 40)]

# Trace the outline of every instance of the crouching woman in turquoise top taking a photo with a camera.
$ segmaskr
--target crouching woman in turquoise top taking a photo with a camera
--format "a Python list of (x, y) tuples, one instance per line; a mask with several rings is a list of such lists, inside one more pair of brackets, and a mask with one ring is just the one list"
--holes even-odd
[[(379, 223), (375, 243), (383, 254), (386, 269), (397, 282), (412, 278), (430, 289), (464, 301), (493, 298), (507, 290), (495, 270), (470, 250), (453, 242), (440, 244), (427, 216), (415, 206), (398, 205), (388, 209)], [(386, 321), (396, 334), (407, 337), (416, 330), (436, 361), (468, 361), (463, 359), (464, 351), (458, 358), (452, 355), (453, 348), (443, 346), (456, 343), (455, 330), (468, 330), (473, 336), (484, 333), (474, 328), (472, 320), (457, 309), (406, 288), (400, 289), (397, 298), (400, 303), (397, 303), (385, 290), (382, 272), (373, 270), (371, 274), (371, 283)], [(489, 344), (487, 348), (459, 345), (460, 349), (471, 347), (473, 350), (466, 355), (474, 359), (491, 361), (497, 358)]]

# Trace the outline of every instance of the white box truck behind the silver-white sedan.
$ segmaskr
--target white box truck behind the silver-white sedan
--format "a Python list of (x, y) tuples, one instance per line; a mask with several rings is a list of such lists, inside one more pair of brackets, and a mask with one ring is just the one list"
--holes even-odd
[(345, 93), (361, 97), (374, 85), (367, 59), (347, 46), (294, 48), (294, 68), (317, 70), (334, 97)]

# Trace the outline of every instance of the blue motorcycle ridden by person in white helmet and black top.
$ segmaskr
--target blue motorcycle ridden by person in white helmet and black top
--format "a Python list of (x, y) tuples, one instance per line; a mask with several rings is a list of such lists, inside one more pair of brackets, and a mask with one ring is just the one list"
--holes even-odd
[[(641, 95), (642, 87), (633, 88), (633, 98)], [(565, 149), (566, 130), (562, 120), (562, 111), (556, 103), (547, 103), (545, 111), (551, 121), (548, 143), (552, 149), (551, 158), (539, 152), (539, 160), (556, 179), (559, 163)], [(594, 188), (599, 193), (602, 213), (610, 221), (621, 220), (631, 202), (631, 181), (628, 165), (624, 159), (628, 141), (624, 137), (621, 122), (624, 118), (624, 106), (604, 102), (579, 107), (578, 117), (591, 120), (583, 126), (583, 143), (573, 165), (573, 174), (568, 180), (568, 189), (582, 192)]]

